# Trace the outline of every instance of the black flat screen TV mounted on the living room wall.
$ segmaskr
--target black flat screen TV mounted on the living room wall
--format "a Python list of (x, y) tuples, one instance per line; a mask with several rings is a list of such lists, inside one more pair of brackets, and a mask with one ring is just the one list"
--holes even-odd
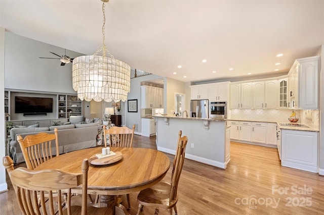
[(15, 96), (15, 113), (53, 113), (53, 98)]

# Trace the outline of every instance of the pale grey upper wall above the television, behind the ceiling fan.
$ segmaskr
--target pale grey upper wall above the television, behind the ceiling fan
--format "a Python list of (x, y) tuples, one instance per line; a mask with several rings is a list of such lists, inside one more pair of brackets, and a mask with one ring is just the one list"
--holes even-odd
[[(72, 64), (60, 66), (60, 60), (39, 59), (39, 57), (59, 58), (64, 48), (6, 32), (5, 88), (76, 93), (72, 88)], [(66, 50), (70, 58), (83, 54)], [(2, 64), (3, 65), (3, 64)]]

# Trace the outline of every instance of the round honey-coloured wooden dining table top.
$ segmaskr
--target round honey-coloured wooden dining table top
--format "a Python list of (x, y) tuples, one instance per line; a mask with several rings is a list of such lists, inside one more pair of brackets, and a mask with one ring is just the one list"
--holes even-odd
[[(59, 169), (80, 174), (83, 159), (100, 153), (101, 149), (94, 147), (61, 154), (35, 170)], [(88, 194), (121, 195), (140, 191), (163, 179), (170, 168), (170, 158), (154, 149), (110, 147), (110, 151), (121, 152), (123, 158), (108, 165), (90, 164)]]

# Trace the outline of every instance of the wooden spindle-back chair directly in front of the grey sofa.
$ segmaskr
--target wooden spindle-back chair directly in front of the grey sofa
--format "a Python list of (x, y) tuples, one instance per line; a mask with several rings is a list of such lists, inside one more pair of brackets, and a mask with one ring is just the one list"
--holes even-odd
[[(54, 134), (38, 133), (27, 135), (22, 138), (17, 136), (26, 166), (33, 170), (43, 164), (53, 156), (59, 156), (58, 130), (54, 129)], [(54, 153), (55, 152), (55, 153)]]

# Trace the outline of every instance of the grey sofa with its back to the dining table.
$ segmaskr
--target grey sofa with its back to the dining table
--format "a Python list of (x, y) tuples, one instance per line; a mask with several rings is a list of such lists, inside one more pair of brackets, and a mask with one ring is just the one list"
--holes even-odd
[(98, 123), (51, 126), (50, 128), (12, 128), (10, 130), (10, 153), (14, 163), (25, 162), (20, 145), (16, 140), (18, 135), (24, 138), (27, 135), (42, 132), (54, 134), (54, 128), (58, 129), (60, 154), (97, 145)]

